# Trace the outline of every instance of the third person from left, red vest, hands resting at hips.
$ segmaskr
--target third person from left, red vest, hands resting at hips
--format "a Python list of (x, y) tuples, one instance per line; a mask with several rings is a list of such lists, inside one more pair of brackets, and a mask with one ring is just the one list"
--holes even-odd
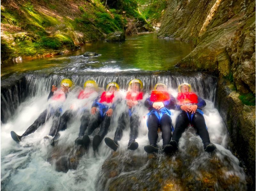
[[(119, 86), (115, 82), (111, 82), (107, 85), (106, 91), (103, 92), (100, 98), (97, 98), (92, 104), (92, 118), (90, 118), (88, 127), (84, 126), (85, 134), (82, 138), (84, 147), (88, 147), (90, 143), (89, 135), (100, 125), (100, 131), (93, 137), (92, 147), (93, 150), (97, 150), (100, 142), (103, 140), (105, 135), (108, 133), (108, 127), (110, 126), (111, 116), (115, 108), (114, 98), (116, 91), (119, 90)], [(81, 143), (80, 141), (77, 142)]]

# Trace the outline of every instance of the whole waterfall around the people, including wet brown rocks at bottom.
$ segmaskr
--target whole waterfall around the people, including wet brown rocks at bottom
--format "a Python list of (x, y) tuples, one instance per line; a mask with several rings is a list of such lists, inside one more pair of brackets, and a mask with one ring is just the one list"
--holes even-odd
[[(1, 88), (1, 186), (6, 190), (155, 190), (155, 189), (246, 189), (245, 174), (239, 160), (228, 150), (226, 127), (214, 108), (216, 77), (208, 73), (172, 72), (86, 72), (86, 73), (27, 73), (25, 83), (15, 82), (14, 88)], [(139, 148), (127, 150), (129, 127), (120, 140), (119, 150), (112, 153), (102, 141), (97, 153), (92, 145), (88, 151), (75, 148), (81, 114), (77, 114), (68, 128), (60, 133), (57, 146), (52, 147), (43, 137), (48, 134), (53, 120), (50, 119), (19, 144), (14, 142), (10, 131), (22, 134), (39, 114), (47, 108), (47, 96), (51, 86), (60, 85), (63, 78), (72, 79), (75, 86), (83, 87), (85, 80), (95, 80), (99, 87), (115, 81), (120, 89), (127, 89), (134, 78), (143, 82), (145, 98), (156, 83), (165, 83), (177, 96), (179, 84), (190, 83), (194, 91), (206, 100), (204, 118), (211, 141), (216, 145), (215, 153), (203, 151), (203, 144), (193, 127), (189, 127), (180, 139), (180, 149), (172, 156), (159, 152), (148, 155), (143, 147), (148, 144), (146, 114), (142, 107), (141, 126), (136, 141)], [(2, 82), (3, 83), (3, 82)], [(12, 93), (13, 92), (13, 93)], [(122, 92), (122, 91), (121, 91)], [(25, 96), (23, 95), (25, 94)], [(13, 96), (15, 95), (15, 96)], [(23, 96), (21, 96), (23, 95)], [(66, 108), (76, 103), (76, 93), (70, 92)], [(144, 98), (144, 99), (145, 99)], [(7, 101), (8, 100), (8, 101)], [(124, 105), (117, 106), (116, 116), (111, 122), (107, 137), (113, 138), (118, 116)], [(172, 123), (178, 111), (172, 110)], [(1, 115), (1, 116), (2, 116)], [(90, 137), (92, 139), (92, 136)], [(161, 133), (158, 145), (161, 146)], [(75, 161), (75, 162), (74, 162)], [(72, 165), (73, 166), (72, 166)], [(56, 169), (56, 170), (55, 170)], [(62, 170), (64, 169), (64, 170)], [(59, 172), (60, 171), (60, 172)], [(61, 172), (63, 171), (63, 172)], [(66, 173), (65, 173), (66, 172)], [(208, 185), (208, 187), (207, 187)], [(200, 190), (200, 189), (199, 189)]]

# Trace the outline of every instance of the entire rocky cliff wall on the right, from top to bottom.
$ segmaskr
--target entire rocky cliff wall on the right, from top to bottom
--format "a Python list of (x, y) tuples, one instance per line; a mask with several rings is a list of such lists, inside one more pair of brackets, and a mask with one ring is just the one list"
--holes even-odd
[[(177, 66), (219, 73), (217, 106), (237, 154), (248, 168), (255, 166), (255, 107), (239, 97), (251, 94), (250, 105), (255, 105), (255, 1), (172, 0), (158, 37), (194, 44)], [(235, 96), (223, 80), (233, 86)], [(249, 172), (253, 180), (254, 168)]]

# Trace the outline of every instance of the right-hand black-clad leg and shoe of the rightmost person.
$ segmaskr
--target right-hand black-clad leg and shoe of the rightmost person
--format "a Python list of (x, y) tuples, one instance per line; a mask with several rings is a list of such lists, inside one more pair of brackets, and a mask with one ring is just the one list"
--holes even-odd
[(204, 150), (210, 152), (213, 151), (215, 146), (210, 143), (209, 133), (206, 129), (204, 116), (201, 113), (196, 112), (192, 118), (191, 124), (197, 129), (198, 134), (204, 143)]

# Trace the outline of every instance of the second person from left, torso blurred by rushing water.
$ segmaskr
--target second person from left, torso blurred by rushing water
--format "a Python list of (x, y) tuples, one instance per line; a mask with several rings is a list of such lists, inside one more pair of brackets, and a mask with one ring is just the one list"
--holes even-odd
[[(86, 99), (86, 101), (92, 100), (93, 98), (91, 96), (94, 97), (98, 95), (97, 93), (97, 84), (95, 81), (93, 80), (87, 80), (84, 82), (84, 89), (82, 89), (79, 92), (79, 95), (77, 96), (78, 99)], [(91, 107), (90, 107), (91, 108)], [(82, 136), (84, 135), (84, 126), (88, 125), (88, 118), (90, 116), (90, 111), (88, 106), (84, 105), (79, 111), (70, 109), (64, 112), (63, 115), (61, 115), (60, 117), (60, 123), (58, 126), (52, 126), (51, 130), (50, 130), (50, 134), (45, 136), (44, 138), (46, 139), (51, 139), (51, 145), (53, 146), (55, 144), (55, 142), (59, 139), (60, 137), (60, 131), (64, 131), (67, 129), (68, 126), (68, 122), (70, 122), (71, 119), (74, 118), (75, 114), (77, 112), (83, 112), (83, 116), (81, 118), (81, 126), (80, 126), (80, 134), (82, 134)], [(87, 125), (86, 125), (87, 124)], [(51, 133), (54, 132), (54, 133)], [(55, 134), (55, 136), (52, 138), (52, 134)], [(82, 141), (82, 136), (79, 136), (79, 138)], [(78, 140), (79, 141), (79, 140)]]

